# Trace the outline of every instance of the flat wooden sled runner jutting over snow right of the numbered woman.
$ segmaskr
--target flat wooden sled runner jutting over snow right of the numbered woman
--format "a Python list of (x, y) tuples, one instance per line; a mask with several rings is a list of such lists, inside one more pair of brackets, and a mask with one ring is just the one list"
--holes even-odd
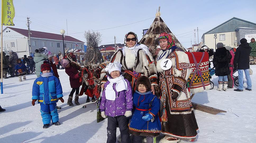
[[(194, 95), (195, 94), (192, 94), (190, 99), (192, 99)], [(217, 108), (213, 108), (213, 107), (209, 107), (209, 106), (205, 106), (205, 105), (194, 103), (194, 102), (192, 102), (192, 105), (193, 105), (194, 109), (196, 109), (196, 110), (203, 111), (203, 112), (206, 112), (206, 113), (210, 113), (210, 114), (213, 114), (213, 115), (216, 115), (218, 113), (227, 113), (227, 111), (217, 109)]]

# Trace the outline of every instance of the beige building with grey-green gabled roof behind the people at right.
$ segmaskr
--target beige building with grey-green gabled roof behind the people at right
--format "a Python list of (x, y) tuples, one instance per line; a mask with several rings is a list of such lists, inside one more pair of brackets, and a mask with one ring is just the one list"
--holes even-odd
[[(256, 28), (256, 23), (233, 17), (205, 32), (202, 36), (203, 45), (213, 48), (214, 51), (216, 50), (216, 44), (219, 42), (223, 43), (224, 46), (236, 48), (239, 46), (240, 39), (245, 38), (246, 34), (254, 34), (254, 28)], [(243, 30), (243, 35), (241, 35), (241, 30)]]

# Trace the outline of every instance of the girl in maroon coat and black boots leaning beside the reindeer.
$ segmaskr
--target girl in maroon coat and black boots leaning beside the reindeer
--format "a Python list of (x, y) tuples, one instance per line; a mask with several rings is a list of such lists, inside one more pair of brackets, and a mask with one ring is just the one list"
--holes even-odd
[(66, 59), (61, 60), (61, 65), (62, 67), (65, 68), (65, 72), (69, 76), (70, 86), (72, 88), (68, 96), (67, 105), (74, 106), (74, 104), (72, 103), (72, 98), (75, 92), (76, 92), (75, 104), (80, 105), (80, 103), (78, 102), (78, 99), (79, 99), (79, 87), (82, 85), (82, 83), (79, 81), (82, 75), (82, 73), (79, 72), (81, 68), (75, 68), (75, 66), (72, 66), (72, 64)]

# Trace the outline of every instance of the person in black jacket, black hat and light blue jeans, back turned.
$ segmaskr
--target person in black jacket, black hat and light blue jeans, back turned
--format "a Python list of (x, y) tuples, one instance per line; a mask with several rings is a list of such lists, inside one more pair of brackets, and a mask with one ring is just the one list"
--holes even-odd
[(252, 91), (252, 81), (249, 74), (250, 69), (250, 53), (252, 50), (252, 47), (250, 47), (249, 43), (247, 43), (247, 40), (245, 38), (242, 38), (240, 40), (239, 47), (236, 48), (236, 54), (234, 58), (234, 69), (237, 69), (238, 71), (238, 81), (239, 81), (239, 87), (238, 89), (234, 89), (234, 91), (243, 91), (244, 89), (244, 77), (243, 73), (245, 73), (246, 78), (246, 84), (247, 88), (245, 90)]

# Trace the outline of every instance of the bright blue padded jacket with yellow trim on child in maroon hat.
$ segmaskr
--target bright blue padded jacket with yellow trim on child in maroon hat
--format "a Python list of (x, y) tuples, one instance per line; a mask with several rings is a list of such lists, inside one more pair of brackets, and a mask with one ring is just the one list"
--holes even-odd
[(56, 76), (38, 77), (33, 84), (32, 99), (38, 103), (57, 103), (58, 98), (63, 97), (60, 80)]

